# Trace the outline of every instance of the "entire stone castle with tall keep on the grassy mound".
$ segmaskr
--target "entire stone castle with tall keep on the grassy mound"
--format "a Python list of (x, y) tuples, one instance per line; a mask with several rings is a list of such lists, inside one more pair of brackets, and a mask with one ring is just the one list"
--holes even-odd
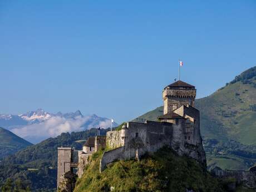
[(139, 160), (146, 152), (169, 146), (178, 155), (186, 155), (206, 167), (200, 134), (200, 112), (195, 109), (195, 86), (176, 81), (163, 90), (164, 114), (159, 121), (127, 122), (120, 130), (108, 131), (106, 136), (90, 137), (78, 151), (78, 164), (72, 162), (71, 147), (58, 147), (57, 186), (63, 175), (77, 167), (81, 177), (89, 156), (100, 148), (107, 149), (100, 161), (100, 170), (116, 160)]

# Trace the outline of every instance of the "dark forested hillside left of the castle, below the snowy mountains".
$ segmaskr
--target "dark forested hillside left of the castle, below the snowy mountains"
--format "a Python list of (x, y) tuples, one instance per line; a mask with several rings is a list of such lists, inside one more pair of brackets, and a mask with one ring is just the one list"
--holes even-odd
[[(82, 148), (82, 141), (95, 136), (97, 129), (82, 132), (63, 133), (39, 144), (28, 146), (14, 155), (5, 157), (0, 163), (0, 186), (22, 180), (22, 183), (34, 191), (55, 191), (57, 181), (57, 147), (71, 146)], [(106, 134), (102, 130), (101, 134)]]

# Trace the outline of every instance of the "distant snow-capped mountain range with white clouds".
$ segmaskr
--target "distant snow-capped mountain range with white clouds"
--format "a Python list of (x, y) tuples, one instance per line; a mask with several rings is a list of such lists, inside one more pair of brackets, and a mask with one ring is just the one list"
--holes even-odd
[[(38, 109), (19, 115), (0, 114), (0, 126), (29, 142), (37, 143), (62, 132), (83, 131), (92, 127), (106, 129), (111, 126), (111, 120), (95, 114), (84, 116), (79, 110), (51, 114)], [(116, 122), (113, 126), (117, 126)]]

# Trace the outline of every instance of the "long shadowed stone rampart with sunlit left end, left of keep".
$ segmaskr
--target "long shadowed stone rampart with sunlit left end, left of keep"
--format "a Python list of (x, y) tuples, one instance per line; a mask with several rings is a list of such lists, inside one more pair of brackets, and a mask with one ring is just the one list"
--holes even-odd
[[(104, 153), (101, 159), (100, 171), (104, 170), (105, 166), (112, 161), (134, 159), (136, 153), (137, 156), (141, 156), (145, 152), (155, 152), (165, 145), (170, 145), (170, 141), (173, 139), (173, 124), (168, 122), (129, 122), (125, 134), (121, 134), (122, 131), (124, 129), (107, 132), (107, 143), (116, 141), (116, 144), (112, 144), (112, 146), (119, 146), (124, 142), (124, 146), (119, 146)], [(112, 134), (112, 137), (110, 134)], [(124, 141), (120, 141), (118, 136)]]

